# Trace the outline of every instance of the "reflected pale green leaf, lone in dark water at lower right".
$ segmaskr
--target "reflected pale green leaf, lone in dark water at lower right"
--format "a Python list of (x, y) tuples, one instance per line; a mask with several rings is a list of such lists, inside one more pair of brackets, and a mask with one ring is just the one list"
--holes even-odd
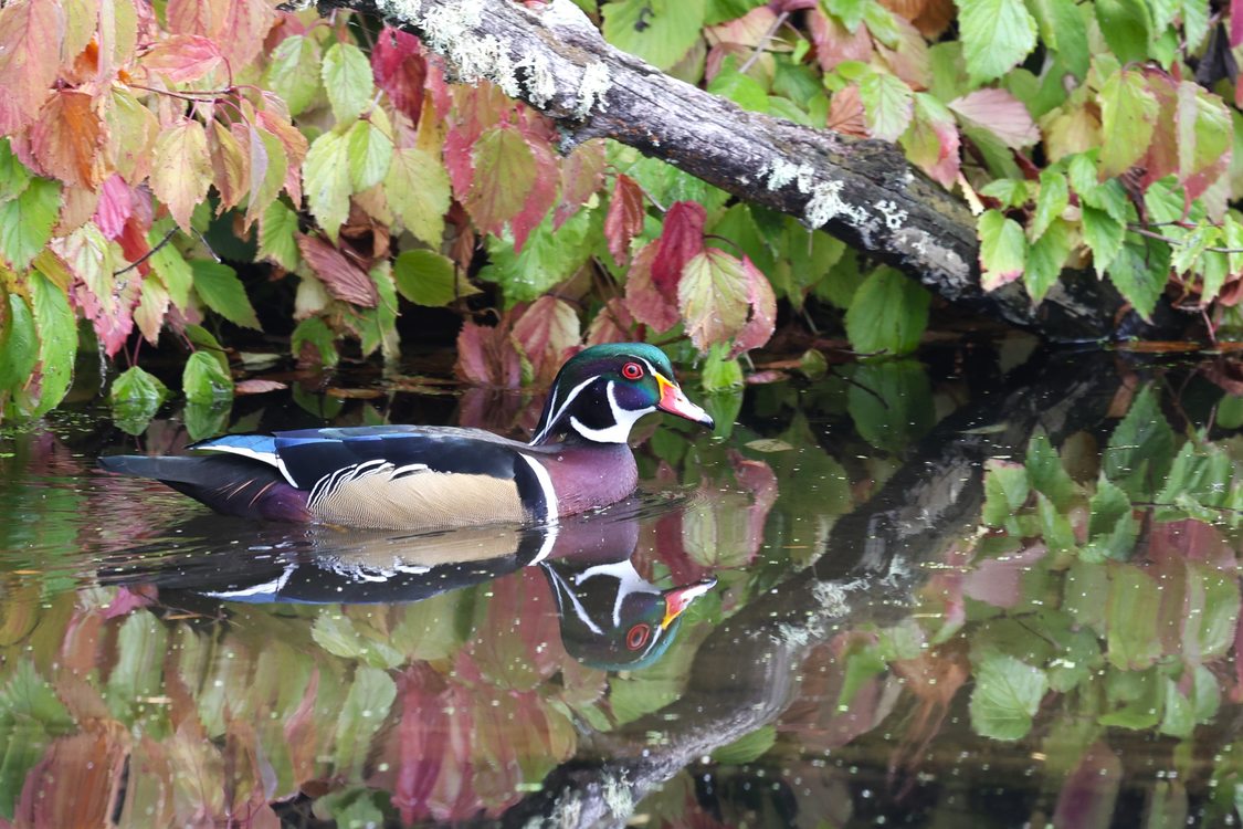
[(1014, 656), (991, 653), (976, 666), (971, 691), (971, 727), (982, 737), (1021, 740), (1032, 730), (1032, 717), (1049, 682), (1038, 667)]

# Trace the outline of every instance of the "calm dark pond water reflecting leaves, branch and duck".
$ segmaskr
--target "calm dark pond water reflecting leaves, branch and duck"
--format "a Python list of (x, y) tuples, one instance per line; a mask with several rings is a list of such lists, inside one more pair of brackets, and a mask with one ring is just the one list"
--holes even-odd
[(711, 399), (715, 436), (650, 418), (640, 492), (554, 531), (260, 524), (94, 466), (523, 435), (538, 395), (5, 425), (0, 823), (1237, 825), (1243, 372), (927, 360)]

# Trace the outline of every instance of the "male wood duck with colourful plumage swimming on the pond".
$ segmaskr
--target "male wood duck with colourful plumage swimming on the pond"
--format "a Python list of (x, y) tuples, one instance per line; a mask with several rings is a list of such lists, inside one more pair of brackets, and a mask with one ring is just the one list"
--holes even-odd
[(613, 343), (562, 367), (530, 444), (450, 426), (302, 429), (191, 447), (208, 455), (114, 455), (99, 466), (245, 517), (403, 529), (541, 523), (630, 495), (638, 470), (626, 439), (656, 410), (713, 426), (659, 348)]

